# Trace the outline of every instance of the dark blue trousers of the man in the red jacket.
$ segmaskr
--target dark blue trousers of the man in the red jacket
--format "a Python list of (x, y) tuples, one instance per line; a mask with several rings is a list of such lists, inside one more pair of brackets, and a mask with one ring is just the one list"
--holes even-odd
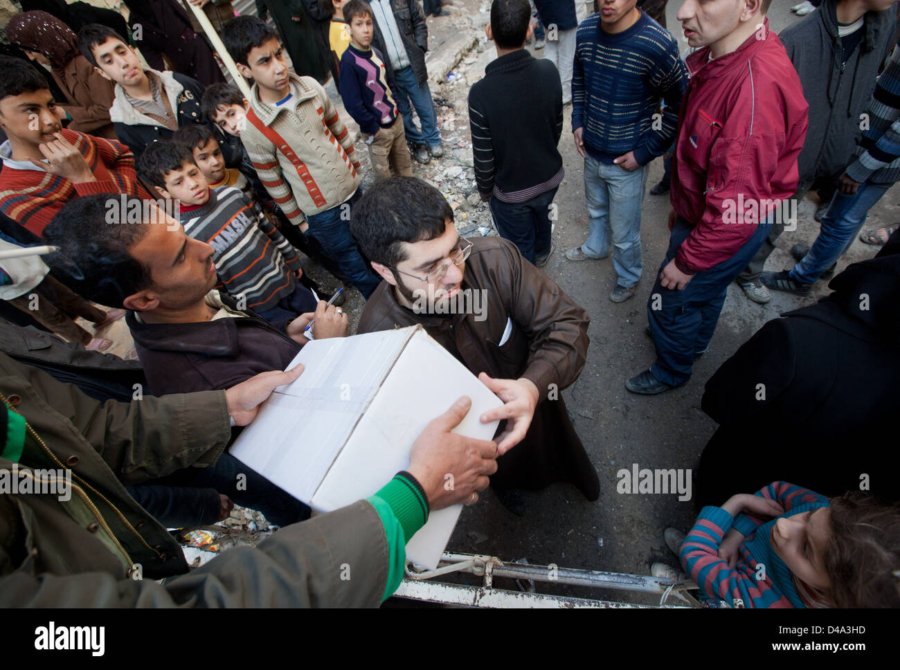
[[(761, 223), (735, 255), (698, 272), (682, 290), (663, 289), (657, 274), (647, 299), (647, 320), (656, 345), (656, 362), (650, 368), (653, 377), (671, 386), (690, 379), (694, 355), (707, 350), (716, 330), (728, 284), (747, 266), (771, 227), (771, 220)], [(675, 221), (660, 272), (678, 254), (693, 229), (686, 219)]]

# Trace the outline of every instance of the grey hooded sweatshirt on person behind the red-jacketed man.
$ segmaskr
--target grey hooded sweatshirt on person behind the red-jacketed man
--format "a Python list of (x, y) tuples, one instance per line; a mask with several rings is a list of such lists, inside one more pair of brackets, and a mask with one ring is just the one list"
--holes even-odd
[(846, 63), (838, 35), (838, 0), (782, 32), (779, 38), (797, 69), (809, 103), (809, 130), (797, 159), (803, 193), (818, 177), (836, 178), (851, 162), (860, 137), (860, 115), (875, 90), (878, 67), (894, 47), (896, 7), (863, 16), (862, 39)]

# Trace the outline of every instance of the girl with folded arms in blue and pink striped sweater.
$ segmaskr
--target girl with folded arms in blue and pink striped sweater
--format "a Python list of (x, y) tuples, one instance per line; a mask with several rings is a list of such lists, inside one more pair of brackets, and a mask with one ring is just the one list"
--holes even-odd
[(680, 559), (708, 598), (732, 607), (896, 607), (900, 511), (773, 482), (704, 507)]

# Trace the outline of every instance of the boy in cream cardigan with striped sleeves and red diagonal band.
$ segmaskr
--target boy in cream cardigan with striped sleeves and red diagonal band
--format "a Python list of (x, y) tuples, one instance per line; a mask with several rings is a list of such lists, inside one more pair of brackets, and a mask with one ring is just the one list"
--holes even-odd
[(308, 228), (368, 299), (378, 279), (349, 228), (350, 212), (362, 195), (359, 161), (328, 94), (315, 79), (290, 72), (266, 22), (238, 16), (221, 38), (238, 71), (254, 79), (240, 139), (260, 180), (293, 225)]

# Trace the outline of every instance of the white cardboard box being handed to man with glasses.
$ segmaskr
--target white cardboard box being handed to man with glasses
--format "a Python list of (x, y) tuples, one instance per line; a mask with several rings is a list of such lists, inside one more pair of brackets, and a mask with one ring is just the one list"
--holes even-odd
[[(460, 396), (472, 408), (454, 433), (490, 440), (498, 422), (478, 417), (502, 405), (422, 326), (306, 344), (278, 387), (231, 446), (231, 455), (320, 512), (372, 496), (410, 465), (410, 447)], [(407, 558), (437, 567), (462, 505), (429, 515)]]

